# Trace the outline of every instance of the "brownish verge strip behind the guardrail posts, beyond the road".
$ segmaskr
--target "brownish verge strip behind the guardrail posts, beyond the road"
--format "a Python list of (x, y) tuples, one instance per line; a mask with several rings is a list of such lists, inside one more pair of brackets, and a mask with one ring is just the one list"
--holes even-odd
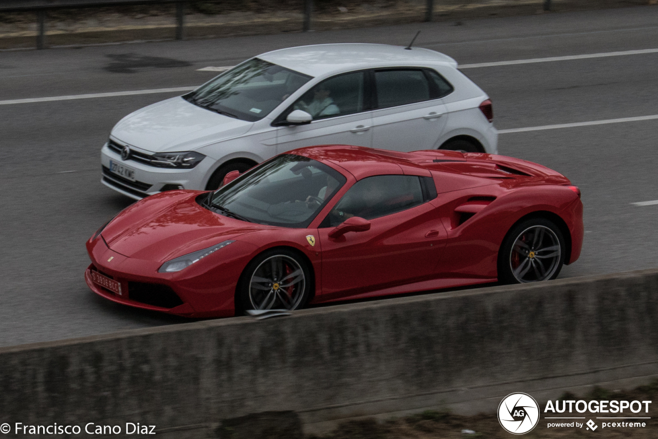
[[(103, 0), (98, 0), (102, 3)], [(71, 44), (97, 44), (139, 39), (217, 38), (299, 32), (305, 23), (312, 30), (365, 28), (392, 24), (514, 16), (542, 13), (547, 5), (554, 12), (583, 11), (649, 5), (653, 0), (434, 0), (428, 11), (426, 0), (387, 1), (315, 1), (309, 21), (305, 18), (305, 0), (258, 0), (218, 2), (197, 1), (186, 7), (184, 28), (178, 28), (175, 8), (171, 5), (112, 9), (65, 9), (48, 13), (41, 26), (32, 12), (1, 13), (0, 49)], [(2, 6), (0, 1), (0, 7)], [(47, 2), (45, 2), (47, 3)], [(354, 3), (351, 5), (351, 3)], [(347, 5), (343, 12), (338, 6)], [(200, 8), (199, 8), (200, 6)], [(0, 8), (1, 9), (1, 8)], [(113, 12), (111, 12), (113, 11)], [(1, 17), (0, 17), (1, 18)], [(409, 36), (411, 40), (412, 35)], [(37, 37), (37, 38), (35, 38)], [(422, 45), (423, 37), (417, 41)], [(408, 41), (405, 40), (405, 43)]]

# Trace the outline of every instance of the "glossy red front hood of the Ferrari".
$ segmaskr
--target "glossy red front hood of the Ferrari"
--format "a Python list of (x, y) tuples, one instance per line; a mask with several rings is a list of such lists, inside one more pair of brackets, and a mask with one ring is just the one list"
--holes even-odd
[(196, 202), (199, 194), (171, 191), (147, 197), (119, 213), (101, 235), (117, 253), (164, 262), (241, 234), (272, 228), (211, 212)]

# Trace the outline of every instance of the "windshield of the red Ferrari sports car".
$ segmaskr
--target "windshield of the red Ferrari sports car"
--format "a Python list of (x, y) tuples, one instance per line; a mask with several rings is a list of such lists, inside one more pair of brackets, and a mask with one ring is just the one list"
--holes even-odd
[(318, 161), (278, 155), (211, 195), (220, 213), (260, 224), (304, 228), (347, 179)]

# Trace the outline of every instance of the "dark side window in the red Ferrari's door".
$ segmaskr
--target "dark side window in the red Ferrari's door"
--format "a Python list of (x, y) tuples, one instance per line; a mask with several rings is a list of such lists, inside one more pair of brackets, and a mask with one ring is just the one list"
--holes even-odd
[(378, 175), (359, 180), (329, 213), (329, 226), (351, 217), (374, 219), (424, 202), (420, 178), (413, 175)]

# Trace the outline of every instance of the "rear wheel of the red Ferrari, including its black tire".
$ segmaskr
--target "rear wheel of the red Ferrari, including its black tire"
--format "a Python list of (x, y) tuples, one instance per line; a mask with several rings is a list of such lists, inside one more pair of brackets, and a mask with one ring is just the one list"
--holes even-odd
[(567, 245), (560, 228), (544, 218), (527, 219), (509, 230), (498, 252), (498, 280), (505, 284), (557, 278)]

